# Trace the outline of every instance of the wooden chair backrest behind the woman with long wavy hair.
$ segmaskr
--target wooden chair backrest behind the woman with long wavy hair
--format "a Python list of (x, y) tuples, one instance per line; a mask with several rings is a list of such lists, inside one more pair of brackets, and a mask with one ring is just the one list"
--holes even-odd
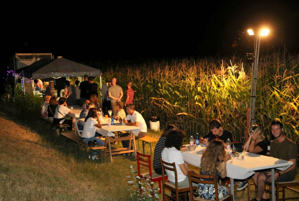
[[(192, 187), (192, 183), (202, 183), (202, 184), (213, 184), (215, 186), (215, 194), (216, 194), (216, 201), (219, 201), (218, 199), (218, 185), (215, 174), (213, 175), (202, 175), (202, 174), (196, 174), (195, 172), (188, 171), (188, 179), (189, 179), (189, 185), (190, 185), (190, 200), (193, 201), (193, 190), (194, 187)], [(212, 179), (212, 180), (201, 180), (201, 179)]]

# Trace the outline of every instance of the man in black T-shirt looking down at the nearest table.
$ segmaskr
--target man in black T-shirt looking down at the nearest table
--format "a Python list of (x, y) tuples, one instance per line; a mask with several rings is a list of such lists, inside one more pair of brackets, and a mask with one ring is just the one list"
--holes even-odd
[(217, 138), (219, 140), (222, 140), (224, 142), (224, 145), (226, 146), (226, 141), (228, 139), (233, 142), (233, 134), (228, 130), (223, 130), (221, 127), (221, 122), (218, 119), (212, 119), (209, 123), (209, 129), (211, 132), (206, 134), (204, 137), (201, 137), (199, 139), (200, 143), (205, 144), (207, 141), (211, 141)]

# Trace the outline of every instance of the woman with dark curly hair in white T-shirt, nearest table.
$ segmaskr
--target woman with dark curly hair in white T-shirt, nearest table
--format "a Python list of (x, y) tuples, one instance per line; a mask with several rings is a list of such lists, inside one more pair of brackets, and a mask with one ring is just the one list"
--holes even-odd
[[(168, 133), (165, 142), (165, 148), (163, 149), (161, 155), (162, 160), (167, 163), (176, 163), (176, 171), (177, 171), (177, 179), (179, 187), (187, 187), (189, 186), (189, 179), (187, 177), (188, 169), (187, 163), (184, 162), (183, 154), (180, 151), (183, 140), (185, 137), (185, 132), (181, 130), (171, 130)], [(173, 171), (169, 171), (165, 169), (169, 182), (172, 184), (176, 184), (176, 178)], [(197, 186), (193, 183), (193, 186)]]

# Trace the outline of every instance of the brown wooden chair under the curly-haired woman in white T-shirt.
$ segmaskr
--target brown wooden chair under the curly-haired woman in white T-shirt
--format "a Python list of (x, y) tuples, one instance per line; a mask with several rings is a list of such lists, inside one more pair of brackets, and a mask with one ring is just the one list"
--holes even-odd
[[(189, 187), (178, 187), (178, 175), (176, 172), (176, 163), (167, 163), (162, 160), (160, 157), (161, 167), (162, 167), (162, 185), (163, 185), (163, 200), (166, 200), (166, 197), (168, 197), (170, 200), (176, 200), (179, 201), (179, 195), (184, 195), (185, 200), (187, 201), (187, 192), (189, 192)], [(165, 183), (165, 173), (164, 169), (167, 169), (169, 171), (174, 171), (174, 175), (176, 178), (176, 185), (167, 182)], [(167, 195), (165, 194), (165, 188), (168, 188), (170, 191), (175, 192), (175, 195)], [(166, 196), (166, 197), (165, 197)]]

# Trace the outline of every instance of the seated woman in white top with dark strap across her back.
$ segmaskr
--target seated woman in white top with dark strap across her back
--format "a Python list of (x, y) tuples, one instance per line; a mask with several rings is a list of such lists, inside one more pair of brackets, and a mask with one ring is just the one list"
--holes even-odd
[(55, 115), (53, 118), (53, 126), (55, 126), (55, 124), (66, 123), (70, 125), (70, 127), (68, 127), (69, 132), (72, 129), (73, 122), (72, 120), (66, 120), (65, 115), (67, 115), (68, 113), (72, 113), (72, 111), (71, 109), (68, 109), (68, 105), (65, 102), (65, 98), (59, 98), (58, 102), (59, 105), (56, 107)]

